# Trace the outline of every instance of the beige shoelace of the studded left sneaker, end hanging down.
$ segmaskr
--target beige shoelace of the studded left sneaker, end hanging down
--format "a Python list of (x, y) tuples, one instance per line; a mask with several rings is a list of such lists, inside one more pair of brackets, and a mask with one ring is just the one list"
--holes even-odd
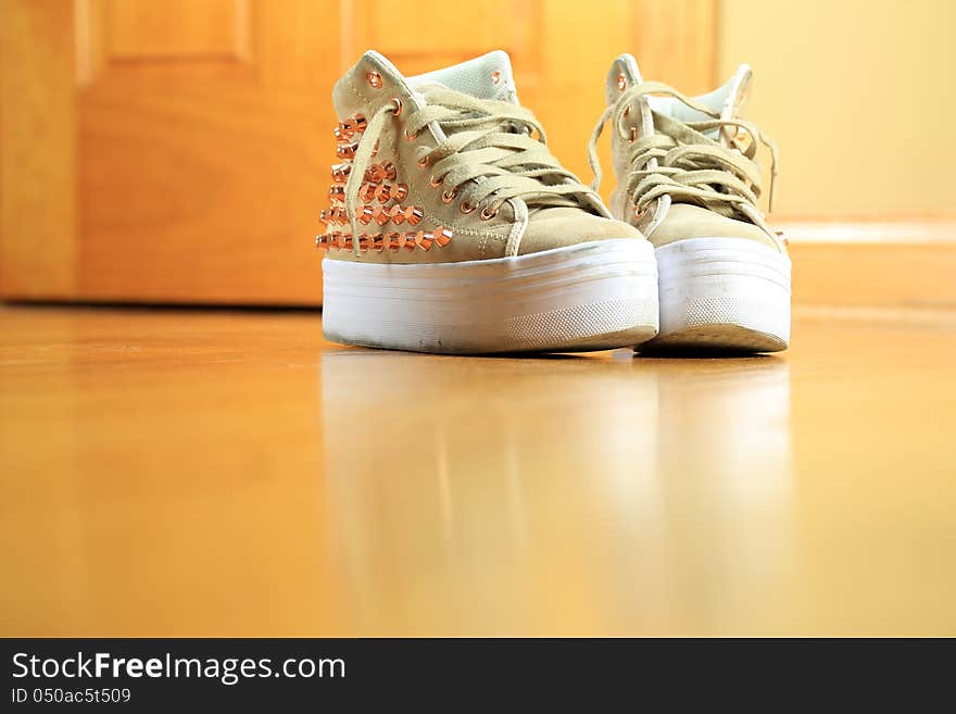
[[(514, 199), (529, 209), (564, 205), (593, 211), (593, 202), (600, 201), (596, 192), (557, 163), (548, 149), (544, 128), (528, 110), (437, 86), (422, 93), (426, 104), (408, 114), (405, 138), (415, 140), (432, 122), (441, 126), (446, 138), (435, 147), (420, 147), (418, 166), (430, 170), (431, 186), (444, 187), (443, 197), (462, 201), (463, 212), (480, 208), (481, 216), (490, 218)], [(386, 123), (402, 111), (399, 100), (376, 111), (355, 152), (344, 197), (353, 236), (358, 235), (362, 177)]]

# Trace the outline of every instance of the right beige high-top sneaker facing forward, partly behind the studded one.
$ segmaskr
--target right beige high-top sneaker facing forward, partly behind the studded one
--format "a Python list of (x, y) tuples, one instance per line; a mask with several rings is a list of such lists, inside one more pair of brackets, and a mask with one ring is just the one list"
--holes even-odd
[(688, 98), (644, 82), (622, 54), (607, 74), (607, 110), (591, 137), (611, 124), (617, 177), (612, 213), (654, 245), (661, 302), (655, 348), (775, 352), (790, 342), (790, 259), (760, 212), (759, 143), (777, 149), (741, 118), (751, 83), (741, 65), (722, 87)]

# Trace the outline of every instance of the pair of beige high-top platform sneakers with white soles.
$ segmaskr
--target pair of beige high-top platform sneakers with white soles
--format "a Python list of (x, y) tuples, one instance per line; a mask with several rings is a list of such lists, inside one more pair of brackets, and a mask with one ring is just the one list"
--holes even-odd
[[(440, 353), (785, 349), (790, 260), (756, 163), (767, 145), (776, 175), (777, 152), (739, 116), (750, 80), (741, 66), (689, 98), (620, 55), (589, 187), (518, 103), (506, 53), (404, 77), (367, 52), (332, 92), (338, 162), (316, 238), (326, 338)], [(609, 209), (595, 192), (605, 126)]]

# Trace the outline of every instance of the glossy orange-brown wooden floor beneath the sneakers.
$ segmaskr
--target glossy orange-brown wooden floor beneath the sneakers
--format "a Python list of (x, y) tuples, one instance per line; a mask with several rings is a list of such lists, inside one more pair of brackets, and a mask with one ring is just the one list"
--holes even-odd
[(956, 635), (956, 317), (781, 356), (0, 309), (2, 635)]

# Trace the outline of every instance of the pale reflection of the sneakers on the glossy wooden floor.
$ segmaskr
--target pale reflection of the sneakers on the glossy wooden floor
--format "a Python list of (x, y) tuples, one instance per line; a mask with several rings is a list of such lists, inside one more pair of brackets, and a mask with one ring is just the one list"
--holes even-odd
[(367, 634), (701, 632), (787, 568), (780, 358), (324, 353), (336, 604)]

